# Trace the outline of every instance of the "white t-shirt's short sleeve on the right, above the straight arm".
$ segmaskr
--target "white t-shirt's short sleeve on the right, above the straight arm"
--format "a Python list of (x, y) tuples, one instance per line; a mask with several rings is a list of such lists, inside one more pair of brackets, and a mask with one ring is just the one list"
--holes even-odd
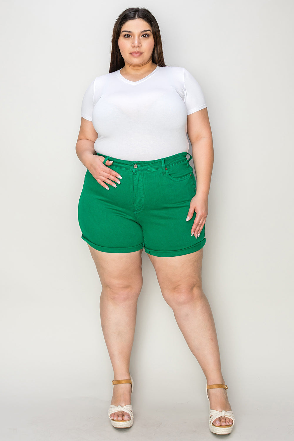
[(185, 98), (184, 103), (187, 108), (187, 115), (191, 113), (197, 112), (197, 110), (201, 110), (207, 107), (205, 103), (205, 97), (201, 90), (200, 85), (196, 81), (193, 75), (190, 74), (184, 68), (184, 87), (185, 87)]

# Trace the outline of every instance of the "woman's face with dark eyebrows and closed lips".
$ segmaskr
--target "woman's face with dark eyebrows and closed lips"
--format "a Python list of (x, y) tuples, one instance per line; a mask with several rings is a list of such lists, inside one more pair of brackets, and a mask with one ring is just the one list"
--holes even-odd
[(142, 19), (126, 22), (117, 41), (125, 64), (142, 66), (152, 58), (154, 39), (151, 26)]

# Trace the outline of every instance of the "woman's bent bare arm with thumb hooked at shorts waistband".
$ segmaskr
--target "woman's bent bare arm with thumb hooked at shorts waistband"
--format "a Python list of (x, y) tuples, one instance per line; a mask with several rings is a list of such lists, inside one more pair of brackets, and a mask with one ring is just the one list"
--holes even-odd
[(116, 187), (115, 181), (120, 184), (118, 178), (121, 176), (116, 173), (109, 165), (112, 165), (112, 161), (107, 160), (106, 165), (103, 164), (104, 156), (96, 154), (94, 149), (94, 142), (97, 139), (97, 131), (93, 127), (92, 121), (88, 121), (82, 118), (81, 127), (78, 134), (78, 141), (75, 146), (75, 151), (78, 155), (78, 159), (85, 165), (91, 175), (97, 180), (102, 187), (109, 190), (107, 184)]

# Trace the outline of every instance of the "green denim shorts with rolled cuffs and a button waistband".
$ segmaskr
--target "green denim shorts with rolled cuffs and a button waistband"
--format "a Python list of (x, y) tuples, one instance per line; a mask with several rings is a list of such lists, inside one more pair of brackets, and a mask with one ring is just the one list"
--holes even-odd
[[(189, 160), (186, 155), (189, 155)], [(105, 156), (103, 153), (97, 155)], [(102, 187), (86, 171), (78, 202), (78, 222), (91, 247), (107, 253), (141, 250), (153, 256), (182, 256), (205, 244), (205, 226), (199, 237), (191, 236), (196, 213), (186, 221), (196, 179), (181, 152), (153, 161), (113, 161), (109, 168), (122, 176), (116, 188)]]

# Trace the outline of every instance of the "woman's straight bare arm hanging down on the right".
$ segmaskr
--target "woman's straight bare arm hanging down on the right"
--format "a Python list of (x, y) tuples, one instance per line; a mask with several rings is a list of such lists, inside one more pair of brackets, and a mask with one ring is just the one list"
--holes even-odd
[(186, 221), (192, 218), (195, 211), (191, 235), (194, 234), (197, 237), (201, 233), (208, 214), (208, 193), (214, 157), (212, 131), (206, 107), (187, 116), (187, 134), (192, 145), (197, 190), (194, 198), (191, 199)]

